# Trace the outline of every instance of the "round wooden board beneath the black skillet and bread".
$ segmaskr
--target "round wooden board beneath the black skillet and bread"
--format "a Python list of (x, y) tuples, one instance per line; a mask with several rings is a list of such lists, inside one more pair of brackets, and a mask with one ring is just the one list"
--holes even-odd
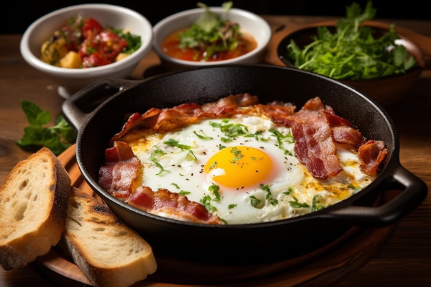
[[(75, 146), (61, 153), (59, 159), (72, 178), (74, 187), (97, 196), (79, 171)], [(390, 196), (382, 200), (388, 201)], [(156, 254), (158, 270), (134, 287), (332, 286), (372, 259), (388, 242), (396, 228), (397, 224), (385, 228), (351, 228), (335, 242), (313, 253), (266, 264), (202, 264), (163, 258)], [(54, 247), (50, 253), (36, 259), (34, 266), (59, 286), (93, 286), (60, 248)]]

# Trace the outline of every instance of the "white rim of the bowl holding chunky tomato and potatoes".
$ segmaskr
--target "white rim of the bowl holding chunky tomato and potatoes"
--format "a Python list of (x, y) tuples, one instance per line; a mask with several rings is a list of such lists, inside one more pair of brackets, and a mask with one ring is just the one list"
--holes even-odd
[[(145, 34), (148, 35), (147, 39), (142, 39), (141, 37), (141, 46), (127, 56), (125, 59), (122, 59), (121, 61), (111, 63), (109, 65), (103, 65), (98, 67), (91, 67), (87, 69), (70, 69), (70, 68), (63, 68), (63, 67), (56, 67), (54, 65), (50, 65), (48, 63), (45, 63), (41, 61), (37, 56), (35, 56), (32, 51), (30, 50), (30, 47), (28, 45), (28, 41), (30, 39), (30, 36), (32, 32), (40, 25), (40, 23), (43, 23), (46, 19), (49, 19), (50, 17), (63, 14), (65, 12), (69, 12), (70, 10), (77, 10), (77, 9), (83, 9), (83, 8), (90, 8), (90, 9), (104, 9), (104, 10), (112, 10), (112, 11), (118, 11), (123, 12), (125, 14), (129, 14), (132, 17), (135, 17), (136, 19), (140, 19), (140, 21), (143, 22), (142, 28), (145, 29)], [(54, 32), (54, 31), (53, 31)], [(20, 50), (21, 55), (27, 61), (30, 65), (33, 67), (36, 67), (39, 70), (43, 70), (49, 74), (55, 74), (56, 76), (65, 76), (65, 77), (71, 77), (71, 78), (79, 78), (83, 74), (87, 76), (100, 76), (101, 74), (109, 74), (112, 72), (113, 69), (116, 69), (117, 67), (125, 68), (129, 67), (131, 65), (135, 65), (136, 57), (142, 58), (144, 54), (146, 54), (149, 50), (151, 50), (151, 44), (153, 43), (154, 39), (154, 33), (152, 30), (152, 25), (149, 22), (149, 20), (143, 16), (143, 14), (140, 14), (139, 12), (136, 12), (135, 10), (123, 7), (123, 6), (116, 6), (112, 4), (103, 4), (103, 3), (90, 3), (90, 4), (78, 4), (73, 6), (67, 6), (65, 8), (60, 8), (58, 10), (54, 10), (52, 12), (49, 12), (48, 14), (45, 14), (44, 16), (40, 17), (39, 19), (36, 19), (33, 23), (28, 26), (28, 28), (23, 33), (23, 36), (21, 37), (21, 43), (20, 43)]]

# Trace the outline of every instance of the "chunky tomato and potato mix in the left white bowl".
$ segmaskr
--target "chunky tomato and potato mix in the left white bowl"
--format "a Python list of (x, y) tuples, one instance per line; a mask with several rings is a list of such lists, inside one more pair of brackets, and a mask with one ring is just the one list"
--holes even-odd
[(77, 14), (43, 43), (41, 60), (58, 67), (98, 67), (124, 59), (140, 44), (140, 36), (128, 30), (103, 27)]

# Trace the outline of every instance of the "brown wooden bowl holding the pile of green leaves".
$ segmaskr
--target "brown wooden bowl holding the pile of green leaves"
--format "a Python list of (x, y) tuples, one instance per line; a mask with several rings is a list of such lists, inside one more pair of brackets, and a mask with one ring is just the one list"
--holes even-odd
[[(336, 21), (324, 21), (307, 25), (306, 27), (287, 34), (277, 46), (277, 55), (280, 61), (288, 67), (293, 67), (293, 63), (291, 59), (289, 59), (286, 49), (290, 41), (293, 39), (299, 47), (303, 47), (313, 41), (311, 36), (317, 33), (317, 27), (327, 26), (335, 28), (335, 25)], [(377, 36), (379, 34), (383, 36), (390, 28), (390, 24), (378, 21), (366, 21), (364, 25), (372, 27)], [(421, 72), (431, 69), (431, 38), (417, 34), (406, 28), (401, 28), (397, 25), (395, 25), (395, 31), (401, 38), (397, 43), (406, 47), (408, 52), (414, 56), (417, 60), (417, 67), (412, 68), (406, 74), (397, 76), (357, 81), (341, 80), (342, 83), (358, 89), (385, 106), (392, 105), (400, 98), (406, 96), (415, 83), (417, 83)]]

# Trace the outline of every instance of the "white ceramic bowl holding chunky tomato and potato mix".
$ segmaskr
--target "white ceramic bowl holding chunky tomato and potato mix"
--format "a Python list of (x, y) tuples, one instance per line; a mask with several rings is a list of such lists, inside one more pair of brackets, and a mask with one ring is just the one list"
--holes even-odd
[[(56, 67), (41, 61), (39, 56), (42, 43), (78, 13), (85, 18), (96, 19), (103, 26), (128, 28), (132, 34), (140, 36), (140, 48), (121, 61), (85, 69)], [(151, 50), (153, 36), (151, 23), (134, 10), (108, 4), (83, 4), (55, 10), (34, 21), (21, 38), (20, 50), (23, 59), (32, 67), (50, 76), (52, 81), (59, 85), (60, 96), (67, 98), (90, 83), (105, 78), (127, 78), (145, 54)]]

